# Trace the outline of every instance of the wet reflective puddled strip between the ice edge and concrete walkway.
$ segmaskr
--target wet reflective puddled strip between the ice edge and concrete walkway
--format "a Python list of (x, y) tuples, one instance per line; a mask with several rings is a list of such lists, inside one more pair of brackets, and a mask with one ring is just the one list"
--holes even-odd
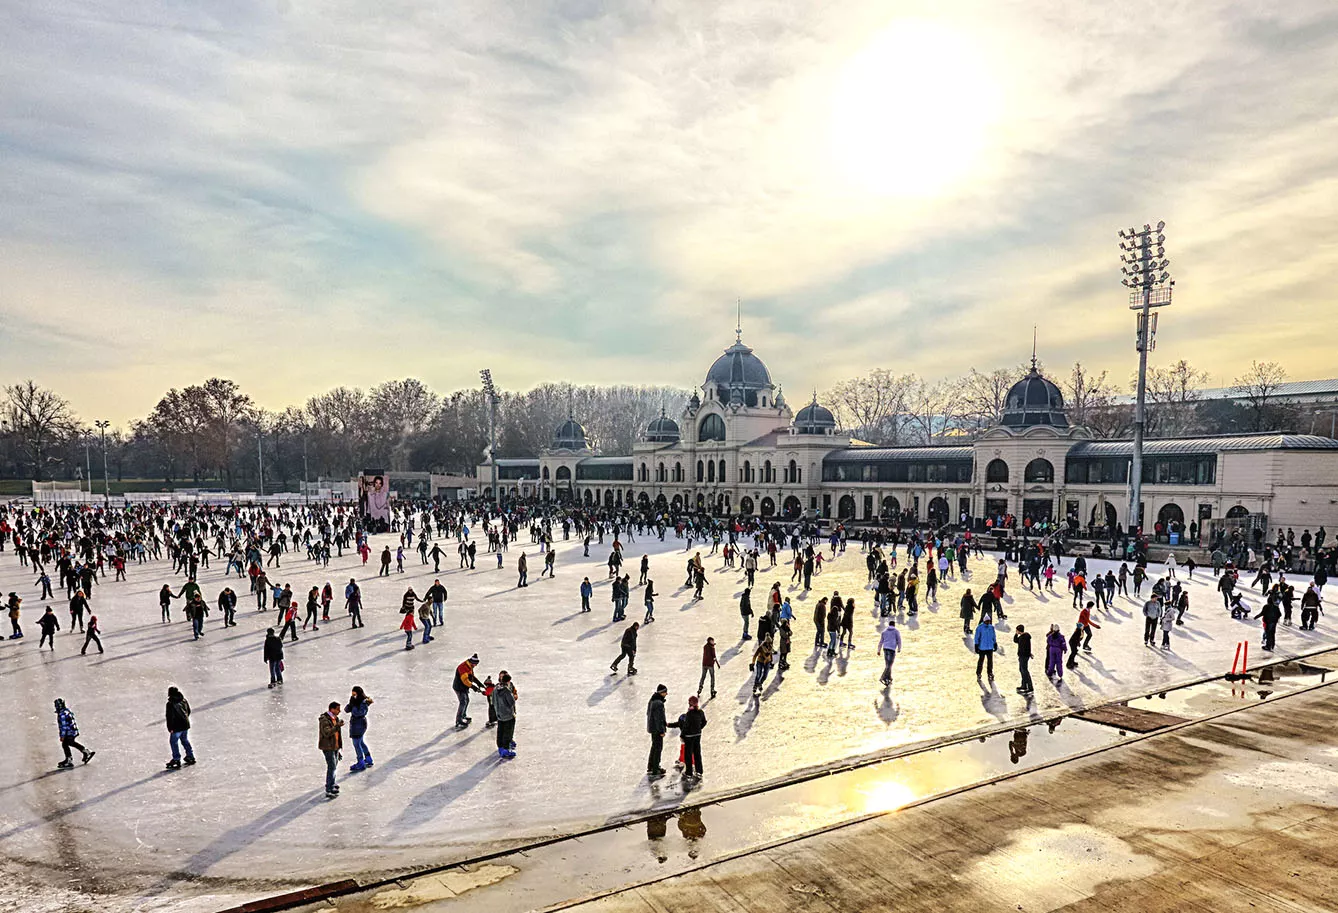
[[(1258, 669), (1250, 681), (1208, 681), (1123, 703), (1203, 718), (1330, 680), (1334, 665), (1338, 653), (1329, 653)], [(336, 908), (345, 913), (403, 908), (543, 910), (673, 877), (1125, 739), (1124, 732), (1109, 726), (1056, 718), (697, 807), (678, 807), (682, 797), (673, 790), (665, 801), (674, 807), (666, 807), (662, 815), (507, 854), (482, 866), (455, 867), (364, 892), (339, 900)]]

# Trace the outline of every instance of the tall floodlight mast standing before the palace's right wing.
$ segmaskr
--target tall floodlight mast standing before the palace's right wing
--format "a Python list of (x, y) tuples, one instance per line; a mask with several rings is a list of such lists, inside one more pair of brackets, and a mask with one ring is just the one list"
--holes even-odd
[(1133, 408), (1133, 461), (1129, 465), (1129, 514), (1127, 529), (1137, 530), (1139, 507), (1143, 503), (1143, 427), (1148, 387), (1148, 351), (1156, 344), (1157, 319), (1153, 308), (1171, 304), (1175, 280), (1167, 272), (1171, 261), (1165, 258), (1167, 236), (1161, 230), (1165, 222), (1156, 228), (1144, 225), (1141, 232), (1127, 229), (1120, 232), (1120, 280), (1129, 290), (1129, 309), (1139, 312), (1139, 328), (1135, 345), (1139, 349), (1139, 398)]

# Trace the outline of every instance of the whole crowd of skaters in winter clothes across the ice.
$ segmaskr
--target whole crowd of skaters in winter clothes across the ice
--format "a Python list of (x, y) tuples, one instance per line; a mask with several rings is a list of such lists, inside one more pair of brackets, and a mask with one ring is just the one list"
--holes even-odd
[[(329, 566), (332, 553), (343, 557), (353, 552), (367, 566), (372, 560), (372, 546), (368, 541), (365, 518), (352, 506), (344, 505), (280, 505), (280, 506), (199, 506), (199, 505), (132, 505), (124, 509), (100, 509), (90, 506), (33, 507), (20, 505), (0, 506), (0, 556), (12, 553), (17, 561), (31, 569), (33, 588), (39, 589), (37, 600), (45, 602), (37, 618), (40, 639), (37, 648), (56, 648), (56, 632), (60, 631), (60, 617), (50, 602), (55, 601), (55, 588), (64, 592), (68, 604), (70, 633), (83, 635), (80, 652), (96, 648), (104, 652), (102, 643), (102, 622), (94, 610), (95, 593), (107, 585), (108, 574), (112, 582), (126, 581), (127, 573), (150, 560), (165, 556), (173, 562), (173, 573), (183, 577), (179, 585), (163, 584), (159, 590), (159, 608), (163, 624), (171, 624), (173, 609), (182, 604), (185, 621), (190, 624), (193, 640), (206, 636), (205, 622), (214, 609), (222, 627), (237, 627), (238, 590), (254, 600), (254, 612), (273, 610), (274, 624), (268, 628), (262, 657), (269, 671), (269, 687), (284, 684), (285, 641), (298, 640), (298, 613), (302, 614), (301, 631), (320, 631), (321, 624), (333, 624), (330, 608), (336, 589), (330, 581), (324, 586), (313, 585), (306, 590), (305, 605), (294, 594), (292, 584), (281, 582), (285, 576), (284, 560), (293, 553), (305, 553), (308, 565), (317, 569)], [(1153, 649), (1169, 651), (1171, 633), (1177, 625), (1185, 624), (1189, 613), (1189, 593), (1183, 586), (1180, 574), (1192, 580), (1198, 565), (1192, 558), (1181, 568), (1173, 553), (1152, 578), (1148, 565), (1148, 545), (1137, 537), (1112, 540), (1112, 554), (1125, 558), (1119, 569), (1089, 573), (1086, 557), (1068, 554), (1062, 531), (1056, 527), (1034, 530), (990, 529), (987, 537), (974, 535), (969, 523), (943, 530), (911, 527), (907, 530), (888, 527), (864, 527), (850, 530), (836, 525), (822, 530), (818, 525), (803, 521), (780, 522), (775, 518), (708, 518), (696, 515), (670, 517), (668, 513), (625, 509), (581, 509), (558, 507), (554, 505), (514, 503), (499, 510), (488, 503), (443, 503), (416, 502), (395, 507), (388, 527), (399, 537), (393, 548), (385, 545), (376, 556), (377, 576), (391, 577), (404, 573), (407, 556), (417, 554), (420, 565), (432, 564), (434, 574), (440, 573), (442, 561), (452, 548), (459, 569), (475, 569), (479, 552), (494, 556), (496, 568), (502, 569), (512, 546), (522, 531), (529, 535), (530, 546), (519, 549), (515, 558), (516, 588), (529, 586), (530, 553), (542, 564), (539, 577), (555, 577), (557, 537), (569, 541), (575, 538), (583, 548), (583, 556), (590, 557), (590, 549), (607, 548), (607, 578), (611, 594), (611, 620), (626, 621), (626, 609), (633, 590), (640, 590), (644, 613), (640, 621), (632, 621), (622, 633), (619, 655), (610, 663), (610, 673), (618, 675), (626, 660), (626, 675), (637, 675), (638, 639), (646, 627), (656, 621), (654, 608), (658, 590), (650, 576), (650, 557), (644, 554), (637, 562), (638, 580), (630, 582), (632, 573), (624, 573), (628, 564), (625, 552), (637, 537), (654, 537), (665, 541), (672, 535), (685, 542), (684, 554), (690, 556), (684, 562), (684, 589), (690, 589), (694, 600), (704, 597), (704, 589), (710, 585), (705, 557), (720, 556), (723, 566), (719, 572), (733, 572), (741, 576), (744, 588), (739, 600), (741, 618), (741, 640), (755, 641), (751, 647), (749, 673), (752, 676), (752, 700), (760, 701), (767, 692), (767, 681), (775, 669), (772, 688), (779, 688), (784, 673), (789, 669), (789, 656), (793, 647), (793, 625), (799, 624), (789, 598), (781, 592), (781, 581), (771, 582), (765, 596), (755, 598), (753, 590), (759, 573), (764, 576), (784, 574), (789, 570), (789, 582), (811, 590), (814, 577), (822, 574), (824, 562), (844, 556), (850, 538), (854, 535), (867, 568), (866, 592), (871, 594), (867, 613), (878, 618), (878, 647), (883, 659), (880, 683), (890, 688), (892, 669), (898, 652), (903, 648), (903, 636), (898, 621), (919, 613), (922, 598), (927, 604), (938, 604), (938, 590), (945, 581), (961, 581), (959, 616), (963, 640), (975, 657), (975, 675), (982, 689), (993, 689), (994, 656), (1002, 652), (995, 624), (1005, 621), (1005, 594), (1010, 580), (1016, 576), (1026, 589), (1056, 592), (1056, 577), (1062, 576), (1070, 605), (1077, 612), (1070, 633), (1065, 635), (1060, 624), (1050, 624), (1044, 635), (1045, 675), (1053, 687), (1062, 687), (1065, 671), (1078, 667), (1081, 655), (1093, 653), (1093, 632), (1100, 631), (1098, 617), (1107, 617), (1112, 610), (1112, 598), (1117, 594), (1132, 596), (1141, 601), (1144, 617), (1144, 644)], [(607, 540), (607, 545), (606, 545)], [(1211, 573), (1216, 578), (1222, 594), (1223, 610), (1234, 618), (1254, 618), (1262, 621), (1263, 649), (1274, 648), (1279, 624), (1291, 625), (1293, 612), (1298, 598), (1287, 574), (1297, 577), (1297, 566), (1306, 566), (1310, 580), (1299, 597), (1299, 622), (1305, 631), (1314, 631), (1323, 613), (1323, 588), (1334, 573), (1338, 552), (1325, 548), (1326, 531), (1321, 527), (1311, 537), (1302, 534), (1305, 544), (1298, 553), (1288, 530), (1286, 538), (1278, 533), (1276, 545), (1254, 542), (1248, 548), (1240, 541), (1218, 542), (1211, 556)], [(1311, 548), (1313, 544), (1313, 548)], [(443, 548), (446, 546), (446, 548)], [(998, 550), (997, 572), (993, 580), (973, 580), (967, 568), (970, 554), (985, 557), (985, 548)], [(597, 557), (598, 557), (597, 554)], [(1100, 546), (1093, 549), (1100, 554)], [(1065, 558), (1069, 558), (1065, 565)], [(198, 573), (210, 566), (210, 560), (225, 561), (225, 574), (235, 574), (237, 589), (223, 586), (213, 605), (206, 600)], [(484, 557), (484, 561), (487, 558)], [(1238, 566), (1240, 561), (1243, 566)], [(1250, 586), (1258, 586), (1262, 604), (1255, 613), (1244, 600), (1246, 586), (1242, 584), (1242, 570), (1252, 569), (1255, 576)], [(52, 582), (55, 574), (55, 584)], [(979, 576), (977, 570), (975, 576)], [(1151, 582), (1149, 582), (1151, 581)], [(923, 588), (923, 596), (922, 596)], [(1147, 588), (1147, 598), (1143, 597)], [(792, 588), (793, 589), (793, 588)], [(979, 596), (975, 590), (979, 589)], [(585, 577), (578, 588), (581, 612), (591, 612), (590, 601), (594, 588)], [(356, 577), (343, 586), (343, 612), (351, 628), (364, 627), (363, 593)], [(11, 592), (5, 609), (11, 624), (11, 641), (24, 637), (21, 624), (23, 597)], [(399, 629), (404, 633), (404, 649), (431, 644), (432, 631), (446, 622), (448, 592), (440, 578), (419, 596), (412, 586), (407, 588), (399, 604)], [(812, 609), (814, 652), (828, 657), (848, 655), (855, 649), (856, 601), (851, 594), (832, 592), (820, 597)], [(756, 620), (756, 627), (753, 621)], [(419, 632), (421, 632), (419, 635)], [(756, 633), (753, 633), (756, 632)], [(1160, 633), (1160, 645), (1157, 636)], [(415, 644), (415, 636), (419, 640)], [(1030, 661), (1034, 651), (1032, 633), (1024, 625), (1013, 628), (1012, 641), (1018, 664), (1017, 692), (1028, 700), (1034, 695), (1030, 675)], [(487, 703), (487, 727), (496, 732), (498, 758), (510, 760), (516, 756), (515, 726), (519, 691), (512, 676), (500, 669), (496, 679), (491, 675), (479, 680), (478, 653), (462, 660), (452, 675), (452, 691), (458, 706), (455, 726), (466, 728), (472, 723), (468, 708), (472, 695), (483, 695)], [(646, 774), (656, 779), (666, 775), (662, 767), (664, 740), (668, 730), (677, 730), (680, 754), (677, 766), (682, 770), (682, 783), (690, 787), (704, 774), (702, 734), (708, 724), (704, 706), (716, 697), (716, 673), (720, 661), (716, 653), (714, 637), (708, 637), (701, 651), (701, 676), (697, 691), (690, 695), (686, 708), (670, 719), (666, 710), (668, 687), (660, 684), (646, 707), (646, 730), (650, 736), (650, 751)], [(709, 681), (709, 697), (702, 701), (702, 692)], [(989, 685), (983, 683), (989, 681)], [(60, 768), (74, 767), (71, 750), (80, 752), (83, 763), (92, 760), (95, 751), (80, 742), (80, 732), (74, 711), (63, 697), (55, 699), (56, 731), (60, 739), (63, 759)], [(317, 747), (325, 760), (325, 795), (336, 798), (337, 764), (344, 748), (345, 723), (348, 736), (353, 743), (356, 760), (349, 767), (359, 772), (372, 767), (375, 760), (367, 746), (368, 712), (373, 699), (361, 685), (353, 685), (344, 701), (330, 701), (317, 718)], [(347, 715), (341, 716), (341, 714)], [(171, 759), (169, 770), (178, 770), (197, 762), (190, 743), (191, 708), (186, 696), (177, 688), (167, 688), (165, 726), (169, 732)]]

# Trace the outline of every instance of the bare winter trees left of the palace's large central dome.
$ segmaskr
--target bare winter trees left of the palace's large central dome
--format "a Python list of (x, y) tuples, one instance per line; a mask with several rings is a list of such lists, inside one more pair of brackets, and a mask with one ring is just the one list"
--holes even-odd
[[(499, 391), (499, 456), (534, 455), (574, 415), (593, 447), (630, 452), (661, 408), (678, 415), (688, 391), (676, 387), (577, 387), (546, 383)], [(488, 444), (482, 390), (440, 395), (420, 380), (371, 390), (336, 387), (301, 406), (272, 411), (234, 382), (210, 378), (169, 390), (142, 419), (103, 430), (70, 402), (32, 380), (4, 388), (0, 400), (0, 478), (161, 479), (163, 486), (254, 490), (261, 462), (266, 490), (305, 479), (348, 479), (364, 470), (472, 473)]]

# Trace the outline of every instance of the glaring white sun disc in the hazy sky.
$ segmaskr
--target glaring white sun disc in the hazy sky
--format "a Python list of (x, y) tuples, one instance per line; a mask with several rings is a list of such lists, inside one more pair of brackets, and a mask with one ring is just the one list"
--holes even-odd
[(998, 84), (962, 32), (902, 20), (843, 68), (831, 155), (858, 191), (935, 197), (978, 163), (999, 115)]

